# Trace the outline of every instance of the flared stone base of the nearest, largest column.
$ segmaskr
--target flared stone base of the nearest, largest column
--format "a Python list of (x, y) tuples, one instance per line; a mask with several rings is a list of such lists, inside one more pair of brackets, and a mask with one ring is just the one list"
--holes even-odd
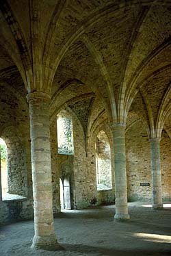
[(64, 248), (57, 243), (55, 235), (38, 236), (34, 235), (31, 248), (43, 249), (46, 251), (62, 251)]

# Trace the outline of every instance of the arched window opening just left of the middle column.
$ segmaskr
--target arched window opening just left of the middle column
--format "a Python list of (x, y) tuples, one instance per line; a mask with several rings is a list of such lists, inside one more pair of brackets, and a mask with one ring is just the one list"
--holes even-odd
[(105, 131), (99, 131), (96, 137), (95, 149), (97, 190), (110, 190), (112, 188), (111, 150)]

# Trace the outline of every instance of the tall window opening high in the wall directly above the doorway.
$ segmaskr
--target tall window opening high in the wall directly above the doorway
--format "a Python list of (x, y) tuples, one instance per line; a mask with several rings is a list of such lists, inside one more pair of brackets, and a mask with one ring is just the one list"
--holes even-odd
[(57, 144), (59, 154), (74, 154), (73, 120), (65, 110), (57, 115)]

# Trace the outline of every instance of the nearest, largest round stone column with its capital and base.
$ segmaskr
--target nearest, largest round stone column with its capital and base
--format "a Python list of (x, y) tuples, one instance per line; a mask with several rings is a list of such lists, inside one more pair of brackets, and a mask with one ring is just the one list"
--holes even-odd
[(32, 248), (60, 248), (54, 231), (49, 133), (49, 95), (27, 94), (30, 116), (31, 170), (34, 194), (34, 239)]

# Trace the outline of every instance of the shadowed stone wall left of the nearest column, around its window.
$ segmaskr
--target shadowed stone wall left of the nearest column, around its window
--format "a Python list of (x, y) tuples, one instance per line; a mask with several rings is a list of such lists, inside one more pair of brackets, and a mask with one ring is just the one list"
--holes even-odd
[(25, 199), (0, 202), (0, 222), (33, 218), (29, 109), (14, 88), (0, 86), (0, 137), (8, 147), (8, 192)]

